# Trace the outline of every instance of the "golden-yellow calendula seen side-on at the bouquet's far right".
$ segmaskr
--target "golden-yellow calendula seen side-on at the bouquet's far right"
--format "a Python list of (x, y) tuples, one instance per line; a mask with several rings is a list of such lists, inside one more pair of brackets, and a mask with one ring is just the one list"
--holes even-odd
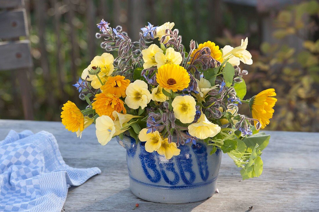
[[(272, 114), (275, 112), (273, 107), (275, 106), (277, 99), (275, 89), (270, 88), (261, 91), (256, 96), (250, 99), (249, 107), (254, 119), (260, 121), (261, 128), (265, 128), (269, 124), (269, 119), (272, 118)], [(255, 126), (257, 121), (255, 122)]]

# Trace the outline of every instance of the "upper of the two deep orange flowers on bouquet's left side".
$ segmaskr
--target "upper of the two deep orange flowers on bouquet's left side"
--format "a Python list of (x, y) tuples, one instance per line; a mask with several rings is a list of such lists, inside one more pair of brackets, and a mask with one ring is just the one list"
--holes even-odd
[(105, 84), (101, 86), (101, 91), (118, 97), (126, 97), (125, 90), (129, 84), (130, 80), (125, 79), (124, 76), (108, 77)]

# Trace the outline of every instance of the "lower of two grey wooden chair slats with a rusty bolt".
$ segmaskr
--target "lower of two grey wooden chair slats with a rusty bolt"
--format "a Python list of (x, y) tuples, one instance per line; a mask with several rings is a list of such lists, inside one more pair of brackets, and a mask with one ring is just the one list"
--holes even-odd
[(0, 42), (0, 70), (33, 66), (28, 40)]

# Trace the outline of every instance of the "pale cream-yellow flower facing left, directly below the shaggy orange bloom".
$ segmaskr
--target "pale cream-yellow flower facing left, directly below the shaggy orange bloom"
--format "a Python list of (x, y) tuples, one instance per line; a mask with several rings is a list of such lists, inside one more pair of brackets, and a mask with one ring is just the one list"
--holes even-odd
[(107, 144), (115, 134), (114, 122), (106, 115), (102, 115), (95, 120), (95, 128), (96, 137), (103, 146)]

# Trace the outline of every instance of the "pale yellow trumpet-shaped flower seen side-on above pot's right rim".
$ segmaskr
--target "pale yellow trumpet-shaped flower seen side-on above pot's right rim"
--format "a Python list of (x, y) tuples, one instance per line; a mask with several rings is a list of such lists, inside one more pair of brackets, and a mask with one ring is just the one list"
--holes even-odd
[(199, 139), (214, 137), (220, 132), (221, 128), (214, 123), (211, 123), (202, 112), (196, 123), (188, 126), (188, 132), (191, 136)]

